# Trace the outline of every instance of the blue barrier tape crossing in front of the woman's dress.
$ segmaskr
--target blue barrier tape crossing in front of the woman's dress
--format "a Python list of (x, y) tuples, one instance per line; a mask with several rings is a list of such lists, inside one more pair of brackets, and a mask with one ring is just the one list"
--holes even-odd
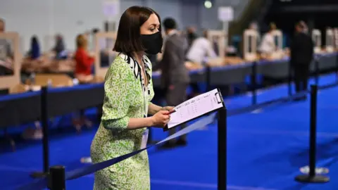
[[(130, 158), (134, 155), (137, 155), (138, 153), (141, 153), (142, 151), (145, 151), (148, 148), (158, 146), (159, 144), (163, 144), (165, 141), (169, 141), (171, 139), (175, 139), (177, 137), (180, 137), (184, 134), (188, 134), (189, 132), (192, 132), (196, 129), (199, 129), (201, 127), (204, 127), (206, 125), (211, 124), (215, 120), (215, 113), (206, 116), (205, 118), (201, 118), (200, 120), (197, 120), (196, 122), (192, 123), (192, 125), (189, 125), (188, 127), (185, 127), (184, 129), (181, 129), (179, 132), (176, 132), (175, 134), (170, 135), (169, 137), (163, 139), (162, 141), (159, 141), (158, 143), (147, 146), (146, 148), (142, 148), (138, 151), (134, 151), (132, 153), (127, 153), (123, 156), (119, 156), (117, 158), (113, 158), (111, 160), (106, 160), (101, 163), (96, 163), (93, 165), (89, 165), (86, 167), (81, 167), (75, 170), (71, 170), (69, 172), (65, 172), (65, 180), (73, 180), (77, 179), (79, 177), (83, 177), (85, 175), (90, 175), (94, 172), (97, 172), (99, 170), (103, 170), (106, 167), (109, 167), (111, 165), (114, 165), (116, 163), (119, 163), (120, 161), (123, 161), (127, 158)], [(225, 118), (224, 118), (225, 119)], [(47, 186), (48, 179), (44, 177), (43, 179), (39, 179), (37, 182), (33, 182), (28, 185), (24, 185), (22, 187), (19, 187), (17, 190), (37, 190), (37, 189), (44, 189)]]

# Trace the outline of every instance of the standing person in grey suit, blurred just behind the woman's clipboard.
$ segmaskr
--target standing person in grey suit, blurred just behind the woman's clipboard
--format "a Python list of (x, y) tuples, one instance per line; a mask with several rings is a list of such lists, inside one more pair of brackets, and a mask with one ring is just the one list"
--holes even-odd
[[(176, 22), (173, 18), (167, 18), (163, 21), (165, 34), (164, 53), (161, 63), (159, 63), (161, 74), (161, 87), (165, 91), (165, 100), (168, 105), (178, 106), (187, 99), (186, 89), (189, 85), (189, 72), (184, 65), (187, 49), (187, 39), (178, 34)], [(182, 125), (185, 127), (185, 125)], [(181, 127), (181, 128), (182, 128)], [(175, 129), (170, 129), (169, 134), (174, 134)], [(163, 146), (172, 148), (176, 145), (186, 145), (185, 135), (179, 137), (177, 141), (172, 139)]]

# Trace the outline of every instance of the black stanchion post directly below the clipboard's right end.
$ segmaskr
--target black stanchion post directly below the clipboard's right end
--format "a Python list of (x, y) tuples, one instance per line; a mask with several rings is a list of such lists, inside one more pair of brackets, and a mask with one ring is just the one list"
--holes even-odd
[(218, 110), (218, 190), (227, 189), (227, 110)]

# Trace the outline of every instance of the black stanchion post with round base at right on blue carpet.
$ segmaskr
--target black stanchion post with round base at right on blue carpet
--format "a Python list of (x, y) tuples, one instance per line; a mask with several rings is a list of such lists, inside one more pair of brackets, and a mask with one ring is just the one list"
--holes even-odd
[(308, 175), (296, 176), (296, 181), (306, 183), (325, 183), (329, 182), (329, 177), (315, 174), (315, 156), (316, 156), (316, 133), (317, 133), (317, 85), (311, 85), (311, 108), (310, 108), (310, 151), (309, 151), (309, 167)]

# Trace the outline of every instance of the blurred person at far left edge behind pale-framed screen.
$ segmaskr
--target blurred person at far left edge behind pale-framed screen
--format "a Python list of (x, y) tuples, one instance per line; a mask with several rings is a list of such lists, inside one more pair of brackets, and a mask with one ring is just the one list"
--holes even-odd
[[(0, 18), (0, 33), (5, 32), (5, 20)], [(0, 76), (13, 75), (13, 53), (7, 39), (0, 39)]]

